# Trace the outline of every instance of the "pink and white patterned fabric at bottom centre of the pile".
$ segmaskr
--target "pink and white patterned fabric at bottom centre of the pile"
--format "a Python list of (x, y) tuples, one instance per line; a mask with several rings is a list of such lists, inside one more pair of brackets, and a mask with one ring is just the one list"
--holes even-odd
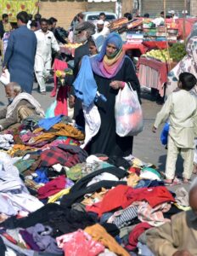
[(93, 241), (83, 230), (59, 236), (56, 241), (58, 247), (64, 250), (65, 256), (96, 256), (104, 252), (104, 246), (98, 241)]

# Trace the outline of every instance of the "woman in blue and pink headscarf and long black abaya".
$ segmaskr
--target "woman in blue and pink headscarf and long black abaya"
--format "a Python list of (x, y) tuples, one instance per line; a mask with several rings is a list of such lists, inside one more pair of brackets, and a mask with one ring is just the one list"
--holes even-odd
[(132, 154), (132, 137), (119, 137), (115, 133), (115, 96), (125, 83), (130, 83), (140, 97), (140, 85), (132, 61), (122, 50), (120, 35), (116, 32), (110, 33), (100, 53), (92, 56), (90, 62), (98, 91), (107, 98), (107, 102), (95, 102), (101, 126), (89, 144), (89, 154), (120, 157)]

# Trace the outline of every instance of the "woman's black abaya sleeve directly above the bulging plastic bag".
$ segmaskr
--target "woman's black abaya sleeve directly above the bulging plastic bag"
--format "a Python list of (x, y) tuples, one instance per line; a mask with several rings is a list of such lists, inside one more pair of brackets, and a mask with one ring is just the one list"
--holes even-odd
[(138, 77), (136, 75), (134, 65), (132, 60), (126, 57), (125, 70), (124, 70), (124, 81), (126, 83), (130, 83), (132, 85), (132, 89), (136, 90), (138, 93), (138, 100), (141, 103), (141, 90)]

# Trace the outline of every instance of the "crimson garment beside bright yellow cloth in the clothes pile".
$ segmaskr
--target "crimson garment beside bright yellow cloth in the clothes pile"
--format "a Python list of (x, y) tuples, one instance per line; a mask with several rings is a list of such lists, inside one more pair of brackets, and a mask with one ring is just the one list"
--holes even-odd
[(43, 187), (37, 190), (38, 198), (48, 198), (50, 195), (54, 195), (65, 189), (65, 175), (54, 178), (52, 181), (46, 183)]

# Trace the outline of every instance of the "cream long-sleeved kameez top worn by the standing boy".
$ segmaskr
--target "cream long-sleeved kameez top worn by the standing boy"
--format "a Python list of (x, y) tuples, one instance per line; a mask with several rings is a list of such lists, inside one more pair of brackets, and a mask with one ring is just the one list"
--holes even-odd
[(169, 119), (169, 136), (177, 148), (194, 148), (197, 134), (197, 98), (187, 90), (172, 92), (155, 119), (155, 127)]

